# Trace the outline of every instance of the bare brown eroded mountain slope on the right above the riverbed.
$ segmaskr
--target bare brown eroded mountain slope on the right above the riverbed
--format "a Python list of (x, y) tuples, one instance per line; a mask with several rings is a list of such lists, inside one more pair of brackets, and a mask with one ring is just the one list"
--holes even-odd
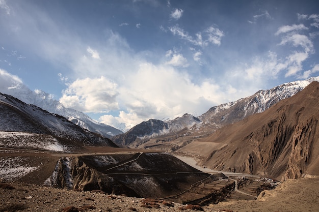
[(202, 156), (204, 165), (217, 170), (282, 180), (319, 175), (318, 120), (319, 82), (312, 82), (265, 112), (221, 128), (180, 150)]

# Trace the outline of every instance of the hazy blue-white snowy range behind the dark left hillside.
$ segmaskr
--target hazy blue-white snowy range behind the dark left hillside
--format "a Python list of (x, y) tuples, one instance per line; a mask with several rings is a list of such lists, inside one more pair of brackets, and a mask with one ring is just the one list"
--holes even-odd
[(36, 105), (50, 113), (62, 115), (70, 122), (91, 132), (99, 133), (107, 138), (123, 133), (114, 127), (96, 122), (81, 111), (64, 107), (59, 101), (55, 100), (52, 95), (42, 90), (35, 90), (35, 92), (33, 92), (25, 85), (17, 84), (7, 89), (2, 88), (0, 92), (18, 98), (27, 104)]

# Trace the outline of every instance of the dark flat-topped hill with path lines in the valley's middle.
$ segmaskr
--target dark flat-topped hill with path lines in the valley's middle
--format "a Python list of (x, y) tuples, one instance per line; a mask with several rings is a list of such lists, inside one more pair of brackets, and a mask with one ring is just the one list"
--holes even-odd
[(61, 158), (45, 185), (158, 198), (186, 190), (209, 174), (166, 153)]

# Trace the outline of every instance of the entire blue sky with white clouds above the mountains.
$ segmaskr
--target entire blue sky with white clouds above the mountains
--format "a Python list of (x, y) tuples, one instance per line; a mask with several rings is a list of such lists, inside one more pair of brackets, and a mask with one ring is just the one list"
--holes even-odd
[(0, 83), (117, 128), (319, 75), (317, 1), (0, 0), (0, 28)]

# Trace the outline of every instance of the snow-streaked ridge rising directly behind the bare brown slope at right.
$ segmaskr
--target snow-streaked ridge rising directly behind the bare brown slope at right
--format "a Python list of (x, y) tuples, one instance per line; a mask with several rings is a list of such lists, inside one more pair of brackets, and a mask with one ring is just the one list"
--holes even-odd
[(198, 117), (202, 123), (194, 126), (193, 130), (199, 134), (214, 132), (249, 115), (263, 112), (280, 100), (294, 96), (313, 81), (319, 81), (319, 77), (284, 83), (268, 90), (259, 90), (250, 97), (211, 107)]

